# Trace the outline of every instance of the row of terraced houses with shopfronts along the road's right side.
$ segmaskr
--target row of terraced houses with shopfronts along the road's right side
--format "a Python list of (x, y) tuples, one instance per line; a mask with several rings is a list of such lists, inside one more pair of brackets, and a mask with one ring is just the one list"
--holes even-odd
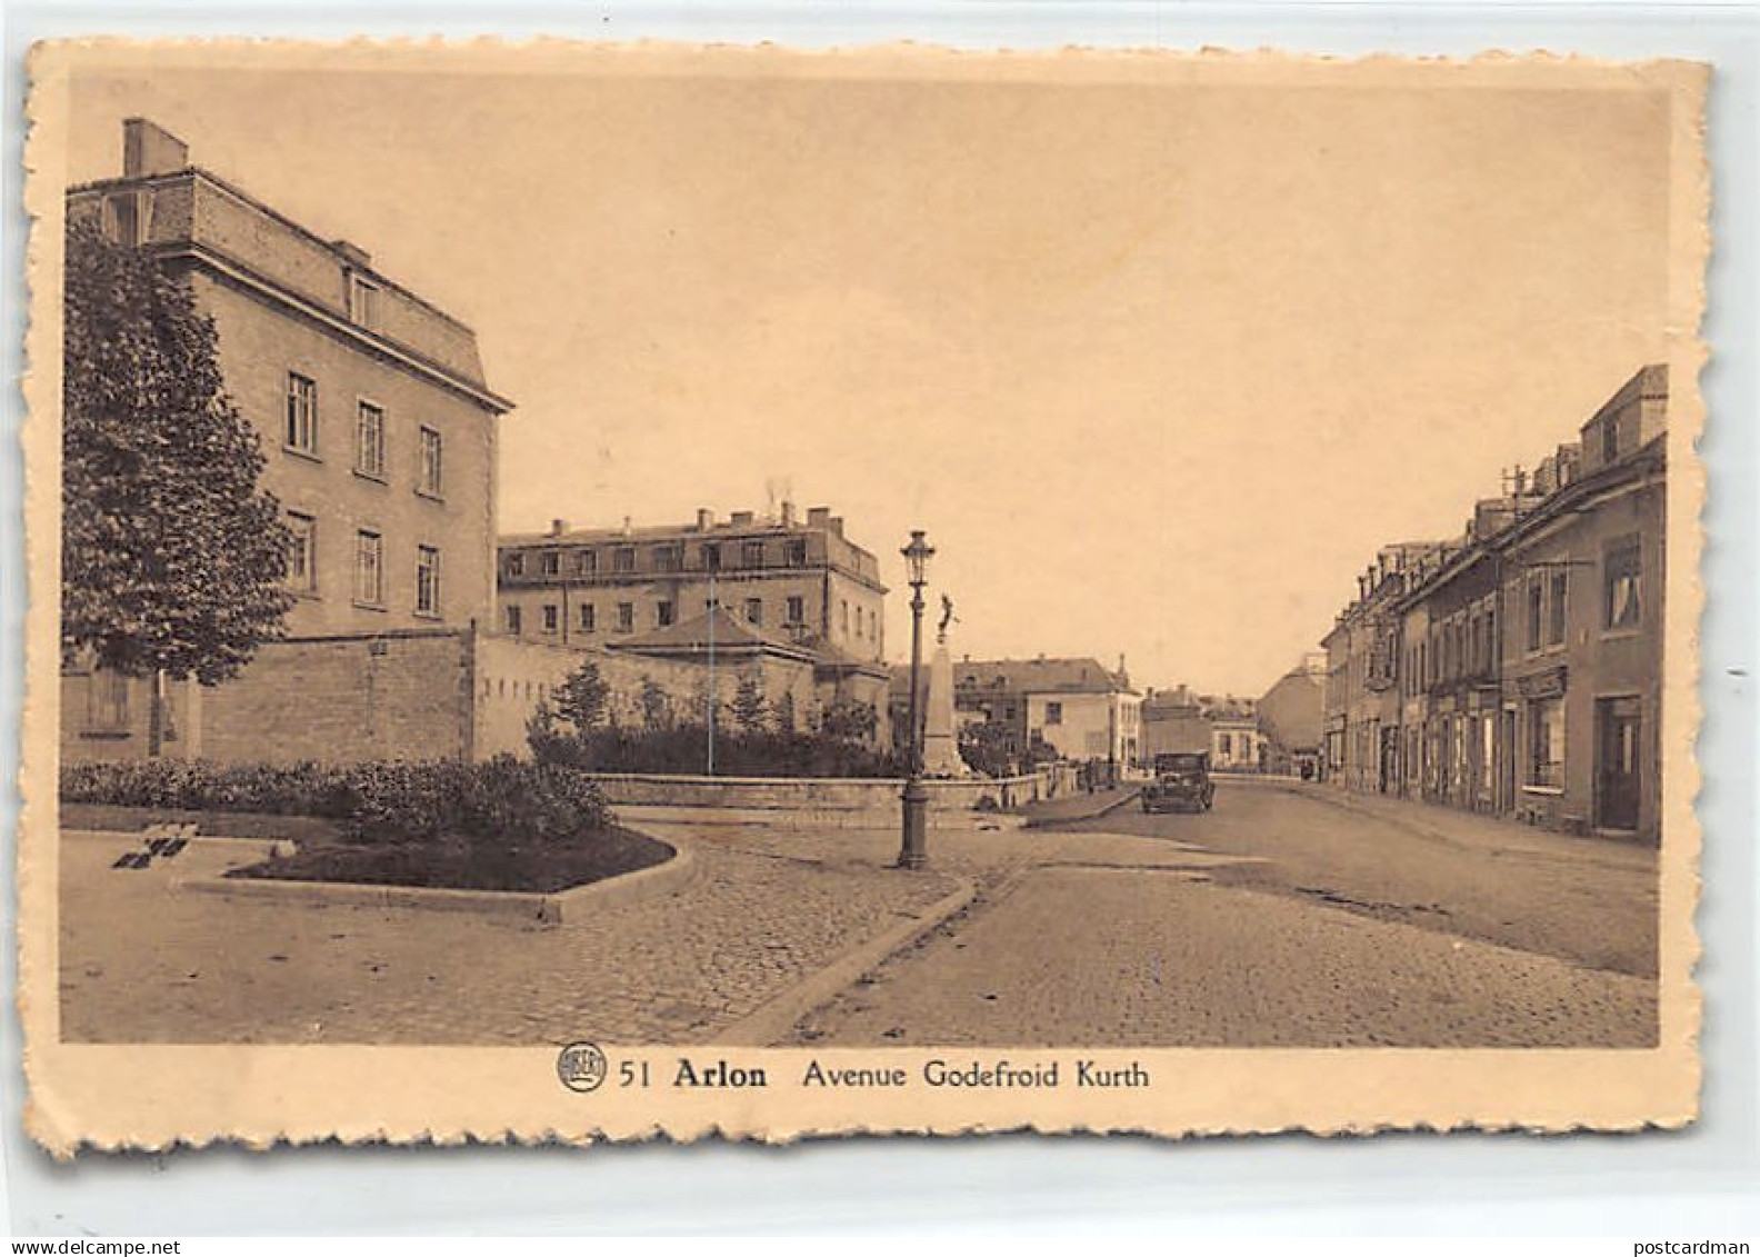
[(1325, 780), (1658, 838), (1667, 410), (1646, 366), (1459, 537), (1378, 551), (1324, 639)]

